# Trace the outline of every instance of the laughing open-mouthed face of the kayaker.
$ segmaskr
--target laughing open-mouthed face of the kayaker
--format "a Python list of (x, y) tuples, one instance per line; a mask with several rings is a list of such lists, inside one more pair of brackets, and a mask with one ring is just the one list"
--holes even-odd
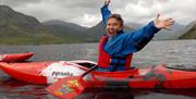
[(120, 21), (114, 17), (110, 17), (107, 22), (107, 35), (109, 37), (113, 37), (118, 34), (119, 30), (122, 29), (122, 27), (123, 26)]

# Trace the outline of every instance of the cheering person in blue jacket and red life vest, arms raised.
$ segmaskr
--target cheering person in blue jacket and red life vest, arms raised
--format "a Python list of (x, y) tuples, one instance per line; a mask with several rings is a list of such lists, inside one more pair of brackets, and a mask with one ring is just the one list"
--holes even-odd
[(120, 14), (111, 14), (108, 10), (110, 0), (105, 0), (101, 8), (102, 21), (107, 35), (99, 44), (98, 71), (113, 72), (131, 69), (133, 52), (143, 49), (160, 29), (169, 29), (174, 24), (172, 18), (151, 21), (148, 25), (135, 32), (123, 30), (123, 20)]

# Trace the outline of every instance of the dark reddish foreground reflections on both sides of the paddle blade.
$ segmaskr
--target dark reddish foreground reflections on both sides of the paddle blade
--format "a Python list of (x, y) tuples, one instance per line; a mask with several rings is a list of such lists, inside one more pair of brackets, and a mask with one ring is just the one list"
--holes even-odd
[[(45, 90), (45, 85), (30, 85), (13, 78), (0, 82), (1, 99), (58, 99)], [(196, 89), (130, 89), (90, 88), (77, 99), (195, 99)]]

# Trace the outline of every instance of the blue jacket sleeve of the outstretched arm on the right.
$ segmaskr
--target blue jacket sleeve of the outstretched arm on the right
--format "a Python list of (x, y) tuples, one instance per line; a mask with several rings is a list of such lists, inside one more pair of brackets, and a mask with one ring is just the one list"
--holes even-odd
[(154, 22), (150, 22), (138, 30), (125, 34), (124, 46), (126, 46), (126, 50), (134, 52), (142, 50), (159, 30), (160, 29), (155, 26)]

